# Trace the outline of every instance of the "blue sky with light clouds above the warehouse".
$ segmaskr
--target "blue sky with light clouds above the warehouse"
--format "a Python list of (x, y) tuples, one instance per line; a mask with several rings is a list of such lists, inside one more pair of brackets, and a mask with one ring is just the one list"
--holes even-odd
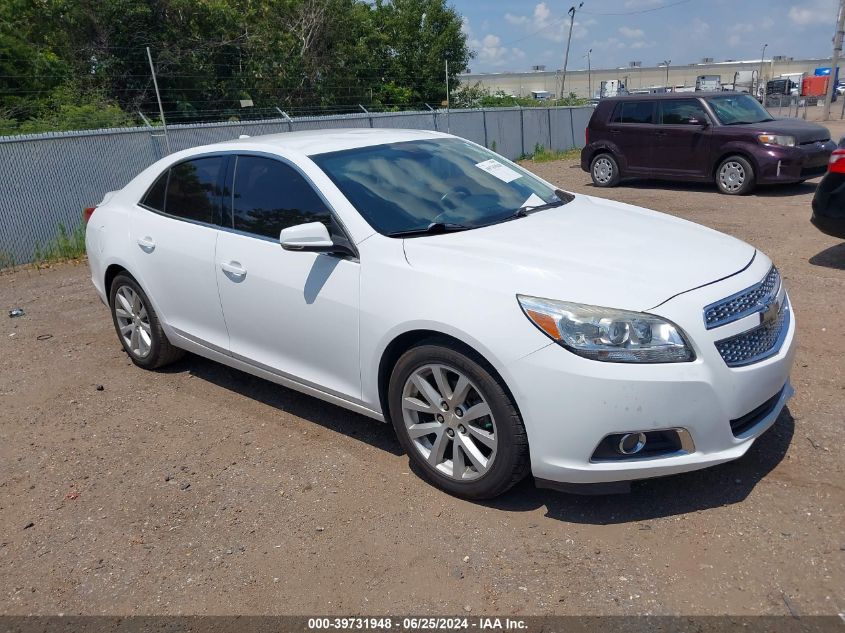
[[(579, 0), (580, 1), (580, 0)], [(563, 67), (572, 0), (451, 0), (464, 18), (472, 72)], [(713, 57), (829, 57), (838, 0), (584, 0), (568, 68), (618, 68), (641, 61), (686, 65)], [(576, 3), (577, 6), (577, 3)], [(612, 14), (612, 15), (611, 15)]]

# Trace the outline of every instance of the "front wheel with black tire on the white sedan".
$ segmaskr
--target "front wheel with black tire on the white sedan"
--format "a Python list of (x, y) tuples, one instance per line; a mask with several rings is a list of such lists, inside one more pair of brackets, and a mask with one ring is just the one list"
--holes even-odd
[(529, 471), (525, 427), (481, 357), (444, 345), (424, 341), (399, 358), (390, 376), (390, 419), (427, 481), (465, 499), (496, 497)]

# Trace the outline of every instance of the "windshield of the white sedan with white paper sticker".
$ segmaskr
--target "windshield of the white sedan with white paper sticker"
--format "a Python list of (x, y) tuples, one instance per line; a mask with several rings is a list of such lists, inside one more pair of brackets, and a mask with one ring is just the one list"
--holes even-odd
[(462, 139), (311, 156), (379, 233), (466, 230), (568, 201), (530, 172)]

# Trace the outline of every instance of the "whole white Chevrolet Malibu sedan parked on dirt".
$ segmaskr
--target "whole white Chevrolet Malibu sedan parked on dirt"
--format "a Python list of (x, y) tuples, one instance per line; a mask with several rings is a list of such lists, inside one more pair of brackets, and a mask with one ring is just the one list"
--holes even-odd
[(197, 147), (85, 217), (136, 365), (188, 351), (389, 421), (466, 498), (736, 459), (792, 394), (795, 319), (765, 254), (447, 134)]

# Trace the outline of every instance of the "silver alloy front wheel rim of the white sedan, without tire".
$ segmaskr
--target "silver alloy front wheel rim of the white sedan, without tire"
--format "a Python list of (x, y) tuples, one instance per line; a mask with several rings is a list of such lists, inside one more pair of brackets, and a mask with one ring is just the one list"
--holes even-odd
[(442, 475), (468, 481), (493, 465), (498, 435), (490, 405), (458, 369), (415, 370), (402, 390), (402, 417), (415, 450)]

